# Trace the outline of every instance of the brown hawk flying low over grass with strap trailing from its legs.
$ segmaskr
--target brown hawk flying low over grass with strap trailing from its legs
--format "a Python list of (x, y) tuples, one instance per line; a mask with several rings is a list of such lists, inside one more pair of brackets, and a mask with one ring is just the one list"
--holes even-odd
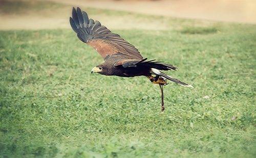
[(95, 66), (91, 70), (92, 73), (121, 77), (146, 76), (152, 83), (160, 86), (161, 111), (164, 111), (163, 86), (168, 84), (167, 80), (193, 88), (191, 85), (162, 72), (176, 70), (177, 67), (143, 58), (138, 49), (132, 44), (125, 41), (118, 34), (112, 33), (99, 21), (89, 19), (87, 13), (81, 11), (80, 8), (75, 9), (73, 7), (70, 24), (77, 33), (79, 40), (92, 46), (104, 59), (104, 63)]

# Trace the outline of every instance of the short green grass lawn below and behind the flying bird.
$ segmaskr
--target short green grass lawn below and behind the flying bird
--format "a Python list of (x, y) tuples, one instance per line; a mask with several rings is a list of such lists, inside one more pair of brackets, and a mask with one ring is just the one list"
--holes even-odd
[(103, 60), (71, 28), (0, 31), (0, 157), (255, 157), (255, 25), (83, 9), (163, 21), (112, 31), (195, 88), (165, 86), (161, 113), (146, 77), (91, 74)]

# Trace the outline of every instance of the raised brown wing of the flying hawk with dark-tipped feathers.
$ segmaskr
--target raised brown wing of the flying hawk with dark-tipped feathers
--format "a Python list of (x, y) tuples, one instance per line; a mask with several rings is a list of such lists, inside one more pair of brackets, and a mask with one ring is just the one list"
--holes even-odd
[(73, 7), (70, 24), (77, 33), (77, 37), (84, 43), (91, 45), (104, 60), (106, 56), (114, 54), (123, 54), (128, 59), (143, 59), (137, 48), (119, 35), (112, 33), (99, 21), (89, 19), (87, 13), (78, 7), (77, 9)]

